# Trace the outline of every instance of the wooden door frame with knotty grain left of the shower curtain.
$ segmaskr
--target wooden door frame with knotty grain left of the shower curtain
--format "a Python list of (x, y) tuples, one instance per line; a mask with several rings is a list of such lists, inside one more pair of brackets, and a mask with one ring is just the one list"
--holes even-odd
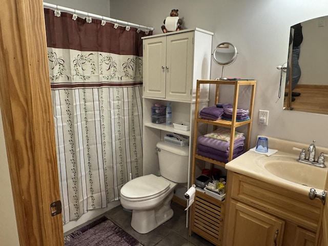
[(41, 0), (0, 8), (0, 107), (20, 245), (64, 245)]

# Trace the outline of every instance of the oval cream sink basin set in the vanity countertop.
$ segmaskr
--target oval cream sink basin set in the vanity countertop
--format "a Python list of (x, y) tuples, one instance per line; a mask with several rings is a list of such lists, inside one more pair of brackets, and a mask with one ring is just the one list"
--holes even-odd
[(263, 163), (271, 174), (310, 188), (323, 189), (327, 168), (318, 168), (296, 160), (270, 160)]

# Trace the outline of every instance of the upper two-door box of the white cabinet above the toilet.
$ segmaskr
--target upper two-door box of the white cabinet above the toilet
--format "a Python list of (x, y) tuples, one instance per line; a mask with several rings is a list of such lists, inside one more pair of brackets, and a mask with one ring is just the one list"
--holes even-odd
[(209, 78), (212, 35), (196, 28), (144, 37), (144, 96), (192, 100), (196, 79)]

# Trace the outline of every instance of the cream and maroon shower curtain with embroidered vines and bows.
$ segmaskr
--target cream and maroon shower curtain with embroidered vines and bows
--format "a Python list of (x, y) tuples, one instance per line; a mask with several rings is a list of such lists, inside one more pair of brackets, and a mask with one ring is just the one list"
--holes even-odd
[(44, 11), (67, 223), (118, 200), (130, 173), (132, 178), (142, 175), (141, 36), (146, 34), (104, 20)]

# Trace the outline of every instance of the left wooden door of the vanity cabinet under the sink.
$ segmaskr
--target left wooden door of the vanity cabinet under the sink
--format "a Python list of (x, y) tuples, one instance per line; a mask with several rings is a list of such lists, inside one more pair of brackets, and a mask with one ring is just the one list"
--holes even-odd
[(283, 220), (233, 200), (230, 206), (227, 245), (281, 245)]

